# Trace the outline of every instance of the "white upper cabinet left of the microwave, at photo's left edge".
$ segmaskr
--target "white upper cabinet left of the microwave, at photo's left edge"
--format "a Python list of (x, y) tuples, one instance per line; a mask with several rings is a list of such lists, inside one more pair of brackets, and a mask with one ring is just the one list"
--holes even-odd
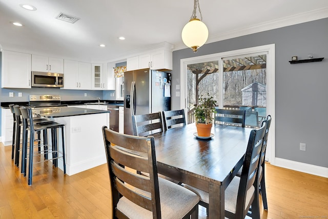
[(2, 51), (2, 88), (31, 88), (31, 54)]

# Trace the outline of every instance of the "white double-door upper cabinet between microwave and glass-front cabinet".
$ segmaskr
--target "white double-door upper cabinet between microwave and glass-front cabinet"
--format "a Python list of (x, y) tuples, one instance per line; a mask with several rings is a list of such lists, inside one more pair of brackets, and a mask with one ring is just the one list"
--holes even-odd
[(91, 63), (65, 59), (64, 89), (91, 90)]

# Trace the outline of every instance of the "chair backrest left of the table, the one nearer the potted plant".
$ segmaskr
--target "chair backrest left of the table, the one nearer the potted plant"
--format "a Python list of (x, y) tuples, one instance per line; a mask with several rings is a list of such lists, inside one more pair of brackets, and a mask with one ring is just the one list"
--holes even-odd
[(163, 111), (163, 125), (165, 130), (176, 128), (179, 126), (185, 126), (186, 125), (185, 110), (180, 109), (180, 110)]

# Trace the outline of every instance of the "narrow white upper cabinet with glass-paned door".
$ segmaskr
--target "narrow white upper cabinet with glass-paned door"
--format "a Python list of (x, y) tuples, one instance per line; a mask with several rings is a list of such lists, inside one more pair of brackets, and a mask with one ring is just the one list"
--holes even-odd
[(107, 90), (107, 64), (92, 64), (91, 85), (93, 90)]

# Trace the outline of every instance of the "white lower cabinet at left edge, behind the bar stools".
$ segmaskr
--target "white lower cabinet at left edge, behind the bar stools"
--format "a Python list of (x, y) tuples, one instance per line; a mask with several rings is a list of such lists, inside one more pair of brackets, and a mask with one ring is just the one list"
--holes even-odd
[(6, 145), (12, 144), (14, 118), (10, 109), (1, 110), (1, 130), (2, 130), (2, 142)]

